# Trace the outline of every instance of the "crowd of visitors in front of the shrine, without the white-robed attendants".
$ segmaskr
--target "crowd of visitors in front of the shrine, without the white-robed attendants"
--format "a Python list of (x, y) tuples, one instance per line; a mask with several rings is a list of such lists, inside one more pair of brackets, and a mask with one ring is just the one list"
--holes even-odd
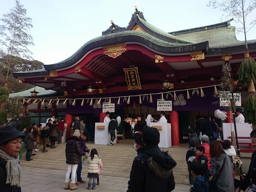
[[(108, 117), (108, 116), (106, 116)], [(202, 123), (202, 128), (206, 130), (206, 125), (214, 128), (214, 124)], [(111, 125), (113, 121), (113, 125)], [(66, 139), (66, 164), (67, 172), (64, 181), (64, 189), (76, 190), (80, 184), (86, 183), (82, 177), (82, 161), (88, 164), (87, 189), (96, 189), (100, 184), (99, 174), (102, 168), (102, 160), (97, 150), (89, 150), (85, 144), (88, 138), (88, 131), (85, 126), (80, 126), (83, 120), (76, 118), (73, 129), (70, 130), (70, 137)], [(108, 131), (115, 130), (118, 120), (110, 120)], [(79, 126), (79, 127), (78, 127)], [(113, 128), (112, 128), (113, 126)], [(59, 134), (64, 132), (64, 119), (48, 119), (48, 126), (35, 123), (28, 129), (16, 130), (11, 125), (0, 128), (0, 186), (4, 191), (20, 192), (20, 173), (22, 153), (26, 151), (26, 160), (31, 161), (31, 156), (40, 149), (43, 140), (42, 152), (47, 152), (46, 147), (56, 148), (55, 142), (62, 144)], [(114, 129), (115, 128), (115, 129)], [(176, 166), (175, 160), (168, 154), (168, 151), (161, 151), (158, 147), (160, 133), (156, 128), (147, 127), (142, 129), (138, 124), (138, 134), (135, 138), (134, 150), (137, 156), (134, 158), (128, 181), (127, 192), (162, 192), (172, 191), (175, 188), (173, 168)], [(83, 132), (81, 132), (81, 129)], [(73, 130), (73, 131), (72, 131)], [(214, 131), (214, 129), (212, 129)], [(256, 190), (256, 152), (252, 154), (247, 176), (240, 182), (237, 189), (234, 186), (234, 162), (233, 156), (236, 151), (229, 140), (222, 142), (212, 140), (210, 136), (203, 134), (197, 136), (192, 129), (188, 130), (189, 150), (186, 154), (188, 165), (189, 184), (191, 192), (208, 192), (209, 188), (216, 187), (218, 192), (240, 192), (248, 188), (248, 192)], [(205, 132), (207, 133), (207, 131)], [(201, 134), (200, 134), (201, 135)], [(115, 138), (115, 133), (111, 134), (111, 140)], [(252, 146), (256, 147), (256, 130), (250, 133)], [(110, 142), (111, 144), (111, 142)], [(87, 153), (87, 154), (86, 154)], [(90, 153), (90, 155), (89, 155)], [(84, 158), (84, 160), (82, 160)], [(236, 167), (237, 169), (238, 167)], [(77, 178), (77, 181), (75, 181)], [(157, 187), (156, 187), (157, 186)]]

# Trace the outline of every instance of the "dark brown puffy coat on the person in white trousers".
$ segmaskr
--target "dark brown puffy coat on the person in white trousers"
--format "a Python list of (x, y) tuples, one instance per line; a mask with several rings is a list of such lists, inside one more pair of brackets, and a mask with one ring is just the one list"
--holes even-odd
[(82, 158), (80, 150), (80, 139), (78, 137), (69, 137), (66, 139), (66, 164), (79, 164)]

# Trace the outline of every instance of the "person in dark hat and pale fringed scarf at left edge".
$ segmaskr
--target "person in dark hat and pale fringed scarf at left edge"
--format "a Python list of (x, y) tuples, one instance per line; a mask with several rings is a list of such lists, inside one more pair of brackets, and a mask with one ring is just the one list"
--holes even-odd
[(0, 127), (0, 186), (4, 192), (21, 192), (19, 152), (22, 135), (11, 125)]

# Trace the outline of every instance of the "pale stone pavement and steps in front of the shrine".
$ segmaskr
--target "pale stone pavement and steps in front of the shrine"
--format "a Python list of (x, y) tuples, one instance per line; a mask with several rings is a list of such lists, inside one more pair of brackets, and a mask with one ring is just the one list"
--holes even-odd
[[(95, 145), (93, 142), (86, 142), (89, 149), (96, 148), (100, 158), (102, 159), (103, 168), (100, 174), (100, 185), (96, 185), (96, 192), (120, 192), (127, 190), (127, 182), (132, 166), (132, 161), (136, 156), (136, 151), (133, 147), (134, 140), (120, 140), (119, 144), (110, 145)], [(66, 175), (66, 158), (65, 158), (65, 143), (56, 145), (57, 148), (48, 150), (47, 153), (40, 151), (36, 152), (36, 156), (32, 156), (32, 161), (25, 160), (26, 151), (22, 156), (22, 192), (66, 192), (64, 190), (64, 180)], [(169, 150), (169, 154), (177, 162), (174, 168), (174, 177), (176, 187), (174, 192), (188, 191), (188, 169), (186, 165), (186, 152), (188, 144), (173, 146), (172, 148), (163, 149)], [(76, 192), (87, 190), (86, 187), (88, 178), (87, 166), (83, 165), (82, 179), (86, 184), (80, 184)]]

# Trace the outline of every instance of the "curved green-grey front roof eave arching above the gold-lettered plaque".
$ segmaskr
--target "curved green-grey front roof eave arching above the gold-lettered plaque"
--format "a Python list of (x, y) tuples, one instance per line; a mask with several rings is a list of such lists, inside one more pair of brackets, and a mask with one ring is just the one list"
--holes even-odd
[(181, 52), (194, 52), (197, 50), (204, 50), (204, 52), (207, 52), (208, 49), (208, 41), (196, 44), (177, 44), (164, 41), (162, 39), (152, 36), (151, 34), (141, 31), (123, 31), (94, 38), (88, 41), (86, 44), (84, 44), (78, 51), (76, 51), (72, 56), (70, 56), (66, 60), (63, 60), (55, 64), (44, 65), (44, 68), (46, 70), (57, 70), (60, 68), (68, 67), (78, 62), (90, 50), (102, 46), (110, 46), (113, 44), (121, 44), (125, 42), (138, 42), (141, 44), (145, 44), (146, 46), (149, 46), (157, 52), (169, 54)]

